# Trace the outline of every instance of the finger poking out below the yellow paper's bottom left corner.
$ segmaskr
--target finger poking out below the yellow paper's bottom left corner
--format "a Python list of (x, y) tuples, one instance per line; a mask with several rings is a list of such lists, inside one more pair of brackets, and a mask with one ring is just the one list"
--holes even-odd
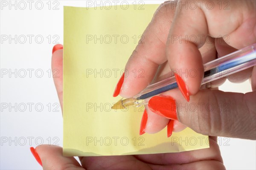
[(62, 156), (62, 147), (44, 144), (35, 150), (44, 170), (84, 170), (74, 157)]

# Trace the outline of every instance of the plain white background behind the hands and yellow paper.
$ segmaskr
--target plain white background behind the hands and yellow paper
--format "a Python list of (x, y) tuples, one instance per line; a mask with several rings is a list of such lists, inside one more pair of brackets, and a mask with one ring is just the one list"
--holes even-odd
[[(62, 146), (61, 109), (52, 75), (49, 74), (52, 47), (56, 42), (63, 43), (63, 6), (86, 6), (85, 1), (43, 0), (39, 3), (31, 1), (31, 9), (29, 9), (29, 2), (23, 2), (1, 0), (1, 170), (41, 169), (30, 153), (29, 147), (36, 147), (42, 143)], [(150, 3), (156, 2), (162, 1), (150, 1)], [(6, 3), (7, 6), (4, 5)], [(10, 3), (16, 5), (10, 6)], [(22, 9), (24, 4), (26, 8)], [(41, 4), (44, 6), (39, 10)], [(53, 10), (54, 7), (57, 9)], [(17, 35), (17, 43), (15, 40), (9, 42), (9, 35), (12, 38)], [(31, 43), (27, 35), (31, 35)], [(8, 40), (3, 40), (5, 36)], [(25, 43), (22, 43), (23, 37), (26, 37)], [(41, 37), (44, 38), (42, 43), (40, 43)], [(54, 42), (56, 39), (58, 40)], [(10, 74), (15, 72), (15, 69), (17, 75)], [(24, 73), (26, 77), (22, 78)], [(41, 73), (43, 73), (42, 77)], [(225, 82), (220, 89), (241, 93), (251, 91), (248, 81), (241, 84)], [(17, 103), (17, 111), (15, 108), (10, 108), (15, 106), (15, 103)], [(24, 105), (26, 105), (25, 111), (23, 111)], [(29, 105), (32, 106), (31, 110)], [(40, 111), (41, 106), (44, 107), (42, 111)], [(255, 141), (221, 137), (218, 138), (218, 142), (227, 169), (256, 169)]]

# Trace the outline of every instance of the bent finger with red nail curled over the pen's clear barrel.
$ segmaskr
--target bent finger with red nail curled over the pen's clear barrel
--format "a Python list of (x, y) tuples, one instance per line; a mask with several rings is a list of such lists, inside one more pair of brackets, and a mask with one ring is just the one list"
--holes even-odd
[[(182, 1), (180, 2), (182, 3)], [(178, 85), (186, 100), (189, 100), (189, 95), (195, 94), (201, 86), (204, 67), (198, 48), (205, 42), (207, 25), (201, 9), (197, 8), (191, 11), (190, 9), (180, 10), (178, 7), (167, 40), (166, 57), (172, 72), (179, 75), (182, 79), (180, 81), (185, 82), (183, 88), (179, 83)], [(192, 25), (197, 27), (191, 27)], [(202, 40), (197, 40), (197, 37), (194, 37), (199, 33), (203, 35)], [(194, 42), (188, 41), (188, 37), (194, 37)], [(195, 72), (193, 78), (189, 76), (189, 71), (192, 70)], [(177, 82), (180, 81), (177, 80)]]

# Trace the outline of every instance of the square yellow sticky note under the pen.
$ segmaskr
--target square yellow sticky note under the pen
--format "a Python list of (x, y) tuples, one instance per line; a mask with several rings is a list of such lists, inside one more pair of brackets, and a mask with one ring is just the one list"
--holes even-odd
[[(158, 5), (64, 7), (64, 156), (169, 153), (209, 147), (186, 128), (139, 135), (143, 108), (111, 110), (116, 82)], [(134, 111), (135, 110), (135, 111)]]

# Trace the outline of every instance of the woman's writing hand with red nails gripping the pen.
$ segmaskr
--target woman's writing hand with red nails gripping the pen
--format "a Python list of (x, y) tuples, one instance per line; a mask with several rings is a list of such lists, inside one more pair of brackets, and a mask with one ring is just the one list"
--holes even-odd
[[(255, 0), (166, 1), (157, 9), (143, 33), (144, 43), (137, 45), (125, 66), (127, 73), (142, 69), (144, 78), (125, 75), (117, 91), (125, 98), (135, 96), (154, 77), (163, 79), (163, 72), (175, 75), (180, 91), (167, 91), (149, 100), (140, 134), (156, 133), (169, 119), (178, 119), (179, 125), (205, 135), (256, 139), (255, 67), (201, 87), (203, 63), (256, 42), (255, 9)], [(159, 65), (166, 63), (169, 68), (156, 74)], [(226, 78), (231, 82), (250, 78), (253, 92), (218, 91)]]

